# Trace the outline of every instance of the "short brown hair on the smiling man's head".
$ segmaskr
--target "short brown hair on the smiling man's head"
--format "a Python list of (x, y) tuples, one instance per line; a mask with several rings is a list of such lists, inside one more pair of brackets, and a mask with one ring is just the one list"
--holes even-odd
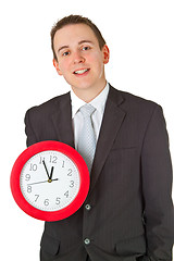
[(88, 25), (92, 32), (95, 33), (97, 39), (98, 39), (98, 42), (99, 42), (99, 47), (100, 49), (103, 48), (103, 46), (105, 45), (105, 40), (103, 39), (100, 30), (98, 29), (98, 27), (87, 17), (84, 17), (82, 15), (70, 15), (70, 16), (65, 16), (64, 18), (58, 21), (52, 29), (51, 29), (51, 48), (52, 48), (52, 51), (53, 51), (53, 58), (55, 60), (57, 59), (57, 53), (54, 51), (54, 48), (53, 48), (53, 39), (54, 39), (54, 35), (57, 33), (57, 30), (61, 29), (62, 27), (64, 27), (65, 25), (70, 25), (70, 24), (86, 24)]

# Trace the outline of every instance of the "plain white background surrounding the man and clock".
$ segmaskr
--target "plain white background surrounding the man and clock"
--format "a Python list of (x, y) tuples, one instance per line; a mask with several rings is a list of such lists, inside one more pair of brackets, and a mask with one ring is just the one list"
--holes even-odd
[(39, 260), (44, 222), (24, 214), (10, 191), (10, 173), (26, 148), (25, 111), (70, 88), (52, 66), (50, 29), (82, 14), (111, 51), (107, 79), (162, 105), (174, 158), (174, 1), (5, 0), (0, 3), (0, 235), (5, 260)]

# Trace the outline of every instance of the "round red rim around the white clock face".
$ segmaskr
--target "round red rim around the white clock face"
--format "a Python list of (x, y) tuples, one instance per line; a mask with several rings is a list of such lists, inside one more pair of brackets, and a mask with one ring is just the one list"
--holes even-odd
[[(77, 196), (67, 207), (58, 211), (44, 211), (34, 208), (26, 201), (20, 187), (20, 176), (26, 161), (33, 156), (46, 150), (55, 150), (67, 156), (76, 164), (80, 175), (80, 185)], [(59, 221), (75, 213), (82, 207), (87, 197), (89, 184), (89, 171), (83, 157), (71, 146), (54, 140), (40, 141), (25, 149), (16, 159), (10, 179), (11, 191), (18, 207), (28, 215), (41, 221)]]

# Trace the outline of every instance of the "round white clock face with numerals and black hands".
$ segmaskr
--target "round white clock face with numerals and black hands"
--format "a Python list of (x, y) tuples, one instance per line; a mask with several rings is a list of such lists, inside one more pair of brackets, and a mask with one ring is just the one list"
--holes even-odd
[(20, 186), (24, 198), (36, 209), (58, 211), (76, 198), (80, 176), (67, 156), (47, 150), (35, 154), (25, 163)]

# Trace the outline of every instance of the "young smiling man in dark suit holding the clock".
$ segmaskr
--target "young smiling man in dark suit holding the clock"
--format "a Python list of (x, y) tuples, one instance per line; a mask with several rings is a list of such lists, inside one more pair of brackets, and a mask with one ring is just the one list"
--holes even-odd
[(95, 110), (96, 145), (86, 201), (72, 216), (46, 222), (40, 260), (172, 260), (172, 165), (161, 107), (107, 83), (109, 48), (88, 18), (64, 17), (51, 40), (53, 64), (72, 90), (27, 111), (27, 145), (59, 140), (80, 151), (84, 104)]

